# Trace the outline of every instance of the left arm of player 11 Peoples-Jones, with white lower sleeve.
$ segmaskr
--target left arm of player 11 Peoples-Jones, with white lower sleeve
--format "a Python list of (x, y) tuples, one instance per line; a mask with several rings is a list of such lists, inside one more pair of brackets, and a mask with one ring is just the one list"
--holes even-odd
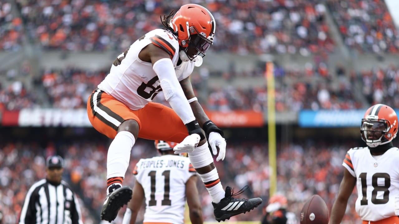
[(126, 212), (123, 216), (122, 224), (135, 224), (138, 211), (144, 200), (144, 189), (140, 183), (134, 183), (132, 199), (127, 204)]

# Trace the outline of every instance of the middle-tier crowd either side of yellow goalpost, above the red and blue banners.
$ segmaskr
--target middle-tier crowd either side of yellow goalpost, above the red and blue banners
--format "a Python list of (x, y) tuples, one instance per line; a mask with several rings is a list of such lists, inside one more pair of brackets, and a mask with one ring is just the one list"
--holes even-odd
[[(261, 76), (262, 73), (259, 73)], [(305, 71), (275, 70), (275, 102), (277, 111), (299, 111), (302, 109), (347, 110), (361, 108), (347, 79), (337, 79), (330, 84), (331, 76), (320, 67)], [(228, 82), (227, 82), (228, 83)], [(267, 87), (248, 86), (223, 88), (209, 83), (206, 104), (209, 110), (267, 110)]]

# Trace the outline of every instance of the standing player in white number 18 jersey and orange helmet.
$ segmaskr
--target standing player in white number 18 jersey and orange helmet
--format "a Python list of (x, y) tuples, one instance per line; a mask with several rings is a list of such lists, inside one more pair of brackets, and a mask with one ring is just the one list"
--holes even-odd
[(341, 223), (355, 185), (355, 208), (363, 224), (399, 223), (399, 149), (392, 144), (398, 132), (395, 111), (384, 104), (371, 106), (361, 120), (360, 132), (368, 147), (346, 153), (344, 178), (332, 206), (330, 224)]

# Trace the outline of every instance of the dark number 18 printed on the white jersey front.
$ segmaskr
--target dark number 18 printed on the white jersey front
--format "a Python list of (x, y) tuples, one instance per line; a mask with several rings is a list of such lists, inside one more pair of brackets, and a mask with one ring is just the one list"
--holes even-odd
[[(360, 205), (367, 205), (367, 173), (361, 173), (359, 175), (361, 181), (361, 193), (363, 198), (360, 200)], [(384, 179), (384, 185), (378, 185), (378, 178)], [(387, 173), (374, 173), (371, 177), (371, 185), (373, 186), (373, 191), (371, 191), (371, 202), (373, 204), (385, 204), (389, 200), (389, 187), (391, 187), (391, 177)], [(382, 191), (384, 193), (382, 199), (377, 198), (377, 192)]]

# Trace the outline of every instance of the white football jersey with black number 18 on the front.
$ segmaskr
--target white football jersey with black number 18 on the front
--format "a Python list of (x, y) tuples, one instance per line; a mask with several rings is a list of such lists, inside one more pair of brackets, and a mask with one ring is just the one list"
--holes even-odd
[(362, 220), (378, 221), (399, 215), (399, 149), (374, 158), (367, 147), (348, 151), (342, 165), (356, 177), (356, 212)]

